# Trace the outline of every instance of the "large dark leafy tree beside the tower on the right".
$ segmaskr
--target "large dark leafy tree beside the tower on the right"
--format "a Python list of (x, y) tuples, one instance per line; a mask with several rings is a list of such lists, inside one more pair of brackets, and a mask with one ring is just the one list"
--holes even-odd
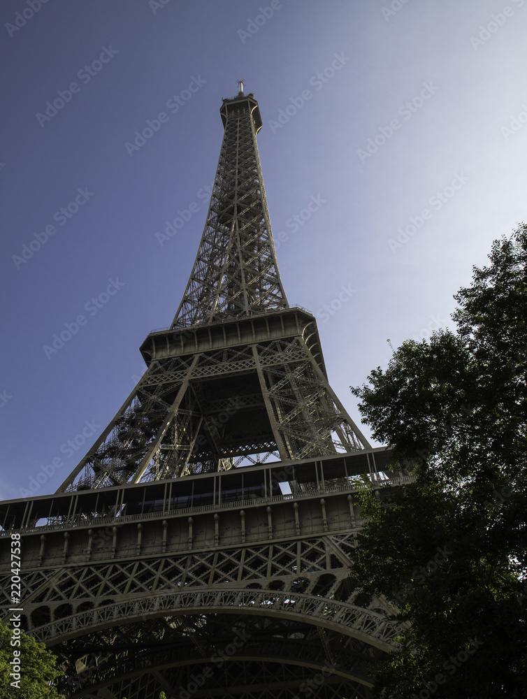
[(405, 487), (361, 495), (354, 572), (405, 630), (376, 696), (527, 696), (527, 226), (454, 296), (456, 332), (407, 341), (352, 389)]

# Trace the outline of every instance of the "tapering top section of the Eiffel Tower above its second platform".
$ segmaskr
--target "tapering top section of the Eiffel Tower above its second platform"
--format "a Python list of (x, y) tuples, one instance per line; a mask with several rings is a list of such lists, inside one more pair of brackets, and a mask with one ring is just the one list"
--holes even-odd
[(252, 94), (224, 99), (224, 137), (207, 221), (173, 328), (287, 308), (273, 245)]

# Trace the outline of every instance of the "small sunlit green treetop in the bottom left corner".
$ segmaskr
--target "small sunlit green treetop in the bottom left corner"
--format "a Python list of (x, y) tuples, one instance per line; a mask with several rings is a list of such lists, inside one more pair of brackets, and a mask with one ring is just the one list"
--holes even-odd
[[(20, 644), (17, 644), (20, 640)], [(15, 651), (20, 651), (20, 656)], [(20, 673), (12, 672), (20, 661)], [(2, 699), (58, 699), (62, 695), (50, 683), (62, 672), (55, 667), (57, 658), (23, 631), (13, 634), (8, 626), (0, 624), (0, 696)], [(20, 679), (18, 675), (20, 674)], [(14, 684), (13, 684), (14, 683)]]

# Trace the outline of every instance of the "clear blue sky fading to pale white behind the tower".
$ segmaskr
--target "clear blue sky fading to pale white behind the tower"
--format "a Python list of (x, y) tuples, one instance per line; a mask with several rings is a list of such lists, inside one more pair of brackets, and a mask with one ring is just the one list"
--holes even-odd
[(6, 0), (0, 15), (2, 499), (55, 491), (143, 373), (239, 78), (263, 118), (289, 303), (317, 315), (356, 420), (349, 385), (386, 366), (387, 340), (448, 326), (472, 265), (526, 219), (524, 0)]

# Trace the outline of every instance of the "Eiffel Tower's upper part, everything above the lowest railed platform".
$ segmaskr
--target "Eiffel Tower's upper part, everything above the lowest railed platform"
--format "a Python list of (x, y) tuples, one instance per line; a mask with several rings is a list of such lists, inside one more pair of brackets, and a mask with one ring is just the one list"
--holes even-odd
[(220, 113), (207, 222), (173, 324), (145, 340), (145, 375), (61, 491), (369, 446), (329, 386), (315, 318), (284, 294), (258, 103), (240, 94)]

